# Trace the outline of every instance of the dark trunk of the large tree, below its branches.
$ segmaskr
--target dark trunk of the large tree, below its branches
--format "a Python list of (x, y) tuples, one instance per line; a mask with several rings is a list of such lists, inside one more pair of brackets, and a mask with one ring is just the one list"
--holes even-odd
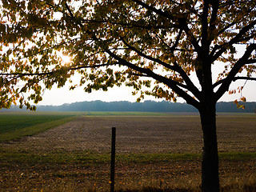
[(199, 110), (203, 134), (202, 191), (218, 192), (218, 143), (216, 134), (216, 103), (205, 103)]

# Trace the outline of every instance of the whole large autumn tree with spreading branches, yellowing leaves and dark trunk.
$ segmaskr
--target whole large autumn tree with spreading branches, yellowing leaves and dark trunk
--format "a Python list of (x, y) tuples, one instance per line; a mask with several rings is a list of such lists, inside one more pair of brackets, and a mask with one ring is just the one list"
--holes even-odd
[[(145, 94), (174, 102), (184, 98), (201, 116), (202, 191), (219, 191), (215, 106), (234, 81), (255, 80), (254, 0), (3, 0), (0, 5), (2, 107), (19, 101), (34, 110), (30, 102), (41, 101), (44, 89), (78, 75), (80, 82), (70, 90), (125, 84), (140, 94), (138, 100)], [(63, 63), (61, 54), (72, 61)], [(216, 67), (221, 69), (214, 79)]]

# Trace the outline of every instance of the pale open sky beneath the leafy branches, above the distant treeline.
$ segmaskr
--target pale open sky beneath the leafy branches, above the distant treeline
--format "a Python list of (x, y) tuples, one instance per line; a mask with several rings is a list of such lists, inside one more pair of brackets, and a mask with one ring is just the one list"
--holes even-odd
[[(242, 86), (245, 81), (240, 83), (234, 83), (230, 88), (237, 88), (237, 86)], [(38, 105), (52, 105), (59, 106), (64, 103), (72, 102), (83, 102), (83, 101), (95, 101), (101, 100), (103, 102), (113, 102), (113, 101), (129, 101), (136, 102), (138, 96), (133, 96), (131, 92), (132, 88), (122, 86), (110, 88), (108, 91), (93, 91), (88, 94), (82, 90), (82, 87), (75, 90), (69, 90), (68, 86), (62, 88), (54, 87), (52, 90), (46, 90), (42, 97), (42, 102), (39, 102)], [(242, 94), (224, 94), (219, 101), (224, 102), (233, 102), (235, 99), (246, 97), (247, 102), (256, 101), (256, 82), (246, 82), (245, 88), (242, 90)], [(146, 96), (145, 100), (153, 100), (160, 102), (162, 99), (156, 99), (154, 97)], [(182, 98), (178, 98), (178, 102), (185, 102)]]

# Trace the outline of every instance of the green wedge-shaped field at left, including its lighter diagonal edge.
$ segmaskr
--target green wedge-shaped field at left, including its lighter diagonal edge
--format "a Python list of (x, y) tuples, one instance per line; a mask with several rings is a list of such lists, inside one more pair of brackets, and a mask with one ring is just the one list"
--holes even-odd
[(71, 121), (82, 113), (6, 112), (0, 113), (0, 141), (31, 136)]

